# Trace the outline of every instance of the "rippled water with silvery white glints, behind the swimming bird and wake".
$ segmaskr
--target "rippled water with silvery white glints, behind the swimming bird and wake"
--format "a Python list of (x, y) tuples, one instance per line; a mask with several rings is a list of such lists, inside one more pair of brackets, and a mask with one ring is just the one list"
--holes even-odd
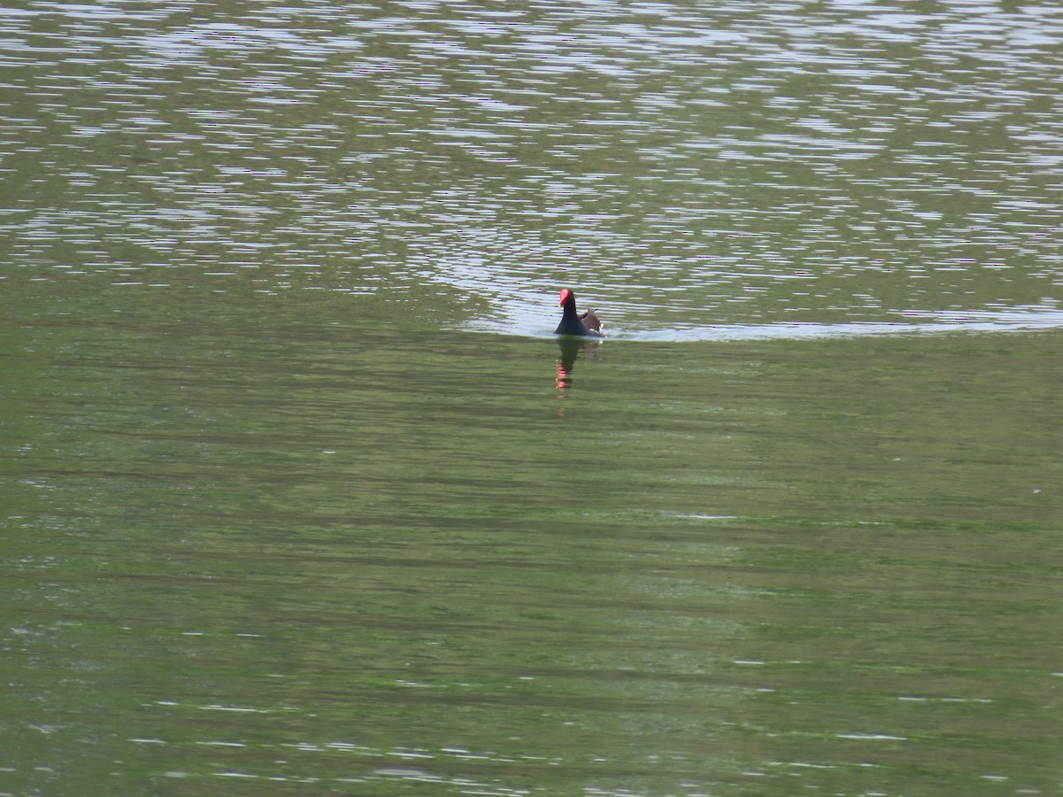
[(0, 30), (7, 259), (54, 278), (387, 290), (524, 333), (559, 282), (632, 333), (1059, 310), (1051, 5), (37, 4)]

